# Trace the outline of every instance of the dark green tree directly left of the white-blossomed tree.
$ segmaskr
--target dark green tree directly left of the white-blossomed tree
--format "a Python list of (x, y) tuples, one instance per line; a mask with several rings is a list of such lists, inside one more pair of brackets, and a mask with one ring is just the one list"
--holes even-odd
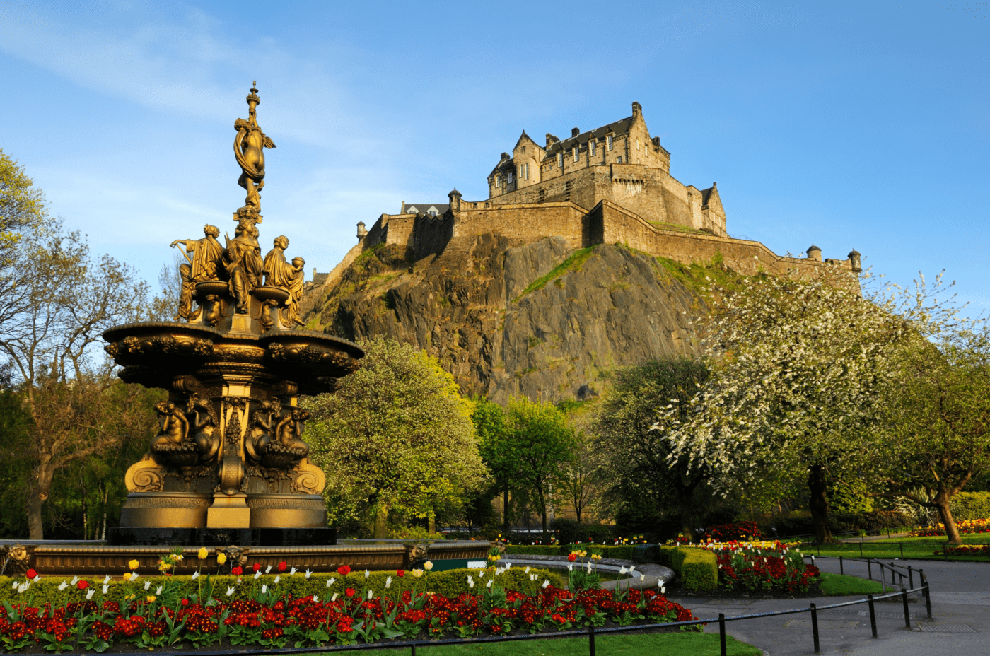
[[(708, 379), (699, 360), (672, 356), (619, 369), (610, 376), (595, 422), (597, 450), (607, 460), (613, 497), (623, 504), (656, 508), (669, 495), (676, 498), (680, 530), (694, 534), (694, 494), (713, 472), (705, 463), (690, 466), (689, 457), (675, 453), (671, 440), (686, 422), (690, 403)], [(670, 412), (657, 415), (657, 409)]]

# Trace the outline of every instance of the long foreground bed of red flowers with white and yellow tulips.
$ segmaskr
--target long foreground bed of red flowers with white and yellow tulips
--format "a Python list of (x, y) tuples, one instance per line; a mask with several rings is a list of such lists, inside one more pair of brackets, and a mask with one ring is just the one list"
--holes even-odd
[[(333, 594), (286, 595), (280, 585), (284, 580), (275, 575), (270, 586), (262, 583), (252, 595), (246, 598), (242, 592), (238, 599), (239, 586), (228, 586), (210, 575), (197, 577), (196, 592), (189, 591), (189, 581), (176, 577), (136, 581), (141, 577), (132, 575), (126, 584), (117, 585), (118, 592), (126, 592), (121, 601), (106, 599), (111, 588), (108, 577), (102, 584), (66, 581), (58, 587), (64, 595), (61, 603), (40, 605), (34, 605), (31, 590), (43, 583), (41, 577), (20, 578), (13, 584), (20, 590), (20, 600), (5, 602), (6, 612), (0, 614), (0, 637), (5, 651), (33, 645), (54, 652), (102, 652), (111, 645), (124, 650), (212, 645), (280, 649), (695, 618), (690, 610), (652, 590), (570, 592), (529, 572), (527, 589), (506, 590), (501, 584), (508, 579), (501, 568), (473, 570), (465, 580), (471, 592), (453, 597), (415, 589), (384, 594), (396, 582), (414, 578), (402, 571), (382, 573), (387, 576), (385, 589), (376, 594), (362, 585), (370, 575), (352, 578), (355, 575), (348, 575), (348, 570), (342, 567), (339, 572), (347, 587)], [(246, 579), (257, 582), (262, 576)], [(290, 573), (285, 579), (304, 576)], [(415, 578), (426, 583), (432, 576), (436, 575), (421, 573)]]

